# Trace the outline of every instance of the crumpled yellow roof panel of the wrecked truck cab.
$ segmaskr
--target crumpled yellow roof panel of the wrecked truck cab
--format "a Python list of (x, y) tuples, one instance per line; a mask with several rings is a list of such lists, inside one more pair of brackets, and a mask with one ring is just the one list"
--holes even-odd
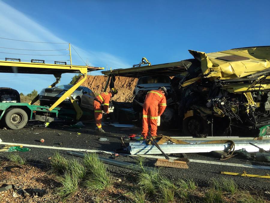
[(270, 70), (270, 46), (249, 47), (204, 53), (189, 50), (201, 62), (202, 74), (211, 79), (244, 78)]

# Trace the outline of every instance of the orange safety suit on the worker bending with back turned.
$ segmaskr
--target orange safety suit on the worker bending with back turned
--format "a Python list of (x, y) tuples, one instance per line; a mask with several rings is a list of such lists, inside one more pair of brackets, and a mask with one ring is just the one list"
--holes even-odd
[(166, 108), (166, 97), (161, 90), (151, 90), (147, 93), (143, 103), (143, 131), (142, 136), (146, 138), (148, 126), (151, 127), (151, 135), (156, 136), (158, 125), (158, 116), (164, 112)]

